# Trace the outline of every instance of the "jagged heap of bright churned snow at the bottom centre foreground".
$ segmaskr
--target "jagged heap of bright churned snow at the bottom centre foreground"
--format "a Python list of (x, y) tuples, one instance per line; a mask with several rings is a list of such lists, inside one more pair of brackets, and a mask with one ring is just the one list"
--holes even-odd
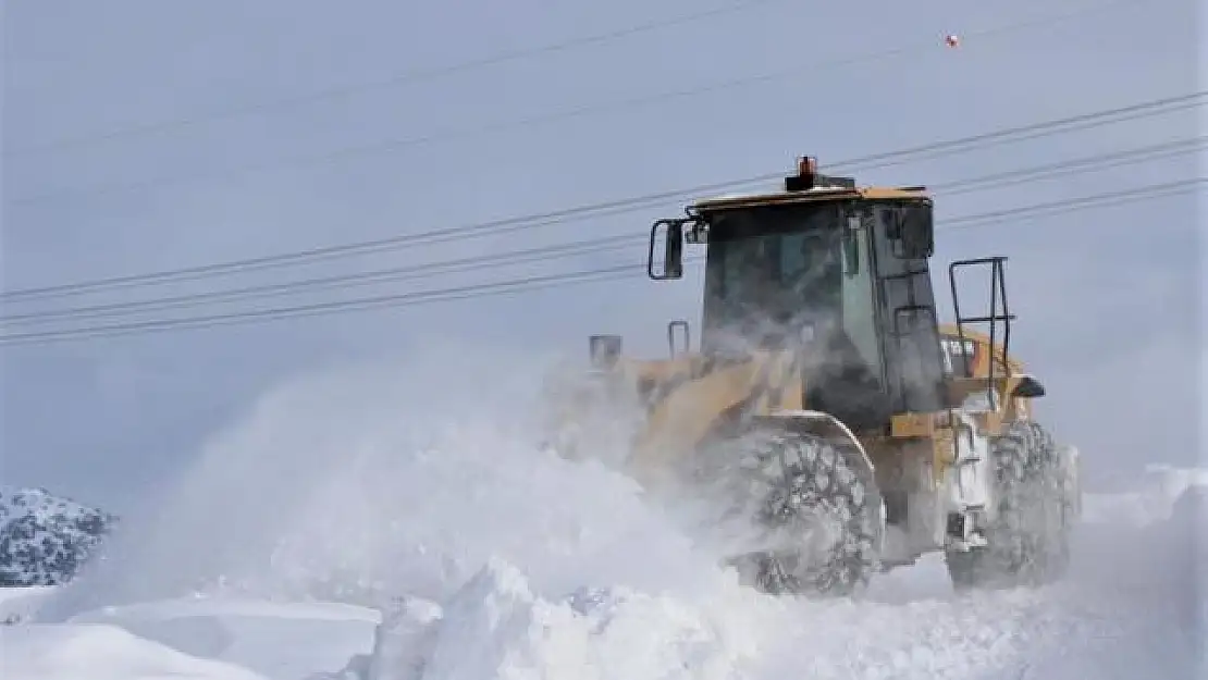
[[(426, 637), (406, 640), (408, 653), (391, 650), (387, 678), (722, 680), (757, 656), (761, 628), (742, 618), (742, 604), (720, 604), (687, 605), (625, 587), (545, 599), (516, 568), (492, 559), (446, 603)], [(402, 664), (399, 656), (413, 661)]]

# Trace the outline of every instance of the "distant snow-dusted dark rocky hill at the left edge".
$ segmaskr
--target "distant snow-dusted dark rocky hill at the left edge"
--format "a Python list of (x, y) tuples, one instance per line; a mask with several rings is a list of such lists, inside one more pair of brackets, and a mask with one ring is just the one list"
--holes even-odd
[(116, 521), (46, 489), (0, 487), (0, 587), (70, 581)]

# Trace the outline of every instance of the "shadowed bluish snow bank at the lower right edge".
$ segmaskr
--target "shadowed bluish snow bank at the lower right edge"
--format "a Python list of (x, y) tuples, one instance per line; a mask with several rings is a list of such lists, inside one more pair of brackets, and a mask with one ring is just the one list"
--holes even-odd
[(1136, 490), (1096, 498), (1051, 591), (1094, 634), (1081, 653), (1035, 659), (1033, 676), (1208, 676), (1206, 493), (1208, 469), (1152, 466)]

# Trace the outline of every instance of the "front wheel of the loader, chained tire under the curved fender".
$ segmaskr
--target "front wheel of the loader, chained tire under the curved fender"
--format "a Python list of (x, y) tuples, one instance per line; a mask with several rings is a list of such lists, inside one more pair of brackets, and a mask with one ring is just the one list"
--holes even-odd
[(761, 531), (759, 550), (731, 558), (756, 589), (772, 594), (849, 595), (877, 568), (881, 495), (844, 451), (821, 437), (760, 426), (719, 442), (704, 457)]

